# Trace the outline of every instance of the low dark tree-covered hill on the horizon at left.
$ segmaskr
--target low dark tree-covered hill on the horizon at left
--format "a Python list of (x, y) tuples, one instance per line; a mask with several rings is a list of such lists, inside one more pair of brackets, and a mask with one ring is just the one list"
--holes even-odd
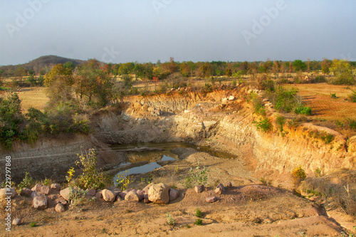
[(27, 70), (34, 70), (36, 73), (40, 73), (41, 70), (46, 70), (47, 68), (52, 68), (53, 65), (56, 65), (58, 63), (67, 63), (68, 61), (72, 62), (74, 65), (78, 65), (86, 62), (85, 60), (63, 58), (59, 56), (50, 55), (50, 56), (41, 56), (39, 58), (31, 60), (28, 63), (23, 63), (19, 65), (1, 66), (0, 70), (2, 70), (6, 74), (11, 75), (17, 70), (17, 68), (23, 67), (26, 68)]

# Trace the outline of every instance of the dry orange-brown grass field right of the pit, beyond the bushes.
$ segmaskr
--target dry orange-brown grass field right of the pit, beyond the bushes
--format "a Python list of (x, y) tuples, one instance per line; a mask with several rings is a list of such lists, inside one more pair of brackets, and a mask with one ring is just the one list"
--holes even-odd
[[(355, 86), (328, 84), (285, 85), (286, 88), (297, 88), (302, 101), (312, 108), (313, 117), (325, 120), (356, 120), (356, 103), (347, 99)], [(336, 94), (337, 98), (331, 98)]]

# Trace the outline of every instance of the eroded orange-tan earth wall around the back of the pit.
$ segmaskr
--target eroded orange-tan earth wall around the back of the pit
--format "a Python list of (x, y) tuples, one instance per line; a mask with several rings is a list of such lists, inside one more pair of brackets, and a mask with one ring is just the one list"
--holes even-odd
[[(120, 108), (109, 107), (93, 115), (93, 135), (42, 139), (33, 147), (17, 144), (11, 157), (38, 158), (14, 159), (12, 165), (19, 177), (26, 171), (40, 179), (64, 177), (80, 149), (101, 150), (98, 166), (110, 167), (124, 157), (110, 151), (107, 144), (194, 142), (244, 157), (256, 172), (287, 174), (299, 166), (309, 174), (315, 169), (323, 174), (355, 169), (356, 137), (346, 139), (310, 124), (284, 125), (281, 132), (274, 122), (273, 132), (258, 131), (253, 124), (258, 117), (244, 99), (247, 93), (248, 89), (240, 87), (206, 95), (188, 92), (127, 98)], [(267, 111), (275, 120), (276, 112), (269, 107)], [(325, 140), (325, 135), (333, 139)]]

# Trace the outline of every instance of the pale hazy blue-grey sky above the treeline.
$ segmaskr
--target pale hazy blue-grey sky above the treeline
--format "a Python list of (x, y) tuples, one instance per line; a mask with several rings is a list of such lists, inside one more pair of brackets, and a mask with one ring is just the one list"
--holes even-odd
[(0, 65), (356, 60), (355, 0), (1, 0)]

